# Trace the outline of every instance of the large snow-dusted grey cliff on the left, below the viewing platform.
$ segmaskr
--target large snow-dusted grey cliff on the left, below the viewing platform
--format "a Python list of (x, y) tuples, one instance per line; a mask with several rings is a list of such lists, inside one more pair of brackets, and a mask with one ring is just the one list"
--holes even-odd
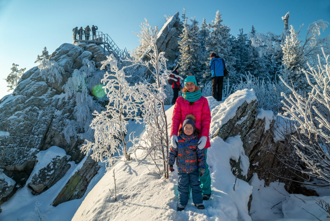
[[(75, 97), (65, 101), (62, 89), (74, 69), (81, 68), (83, 59), (95, 61), (99, 67), (106, 54), (95, 44), (81, 44), (80, 47), (62, 44), (50, 56), (50, 60), (64, 69), (61, 82), (45, 81), (39, 68), (33, 67), (23, 74), (13, 94), (0, 100), (0, 168), (16, 182), (17, 188), (25, 185), (42, 159), (36, 161), (40, 151), (57, 146), (71, 157), (55, 155), (33, 172), (29, 186), (36, 194), (47, 190), (65, 175), (70, 167), (69, 158), (75, 163), (83, 159), (79, 150), (83, 140), (75, 136), (67, 141), (63, 133), (66, 122), (75, 120), (76, 101)], [(0, 198), (8, 199), (3, 196), (11, 196), (17, 188), (0, 189)]]

